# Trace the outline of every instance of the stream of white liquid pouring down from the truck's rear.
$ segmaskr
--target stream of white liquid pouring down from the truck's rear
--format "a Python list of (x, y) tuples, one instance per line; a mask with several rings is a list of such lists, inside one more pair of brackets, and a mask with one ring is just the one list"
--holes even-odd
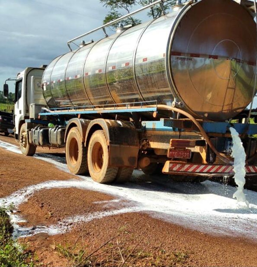
[(244, 151), (243, 143), (239, 137), (239, 133), (232, 127), (229, 128), (231, 132), (231, 136), (233, 139), (232, 146), (232, 157), (234, 158), (234, 172), (235, 172), (235, 183), (237, 184), (237, 190), (233, 194), (233, 198), (236, 198), (237, 201), (245, 202), (247, 207), (249, 207), (249, 203), (245, 198), (244, 194), (244, 184), (245, 184), (245, 158), (246, 154)]

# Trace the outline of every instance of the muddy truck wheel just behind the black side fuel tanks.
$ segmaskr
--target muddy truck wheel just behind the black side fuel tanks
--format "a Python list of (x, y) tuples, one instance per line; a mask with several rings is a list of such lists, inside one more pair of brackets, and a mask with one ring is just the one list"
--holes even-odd
[(85, 174), (88, 172), (87, 151), (77, 127), (71, 128), (67, 135), (65, 154), (71, 173)]

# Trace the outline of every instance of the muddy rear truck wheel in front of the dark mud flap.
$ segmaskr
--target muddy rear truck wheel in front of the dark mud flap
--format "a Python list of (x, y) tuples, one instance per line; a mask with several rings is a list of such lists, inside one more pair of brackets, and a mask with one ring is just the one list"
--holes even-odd
[(88, 170), (92, 179), (97, 183), (114, 181), (118, 167), (108, 167), (109, 151), (103, 130), (95, 131), (88, 144)]

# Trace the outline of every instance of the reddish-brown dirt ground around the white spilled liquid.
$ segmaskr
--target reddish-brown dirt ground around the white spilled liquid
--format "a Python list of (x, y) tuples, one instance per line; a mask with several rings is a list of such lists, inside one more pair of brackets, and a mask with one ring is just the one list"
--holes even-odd
[[(0, 140), (17, 144), (1, 134)], [(0, 197), (44, 181), (79, 179), (50, 163), (2, 148), (0, 162)], [(112, 209), (95, 203), (111, 199), (103, 193), (76, 188), (44, 189), (20, 205), (18, 212), (27, 220), (24, 226), (51, 225), (71, 215)], [(41, 266), (74, 266), (71, 254), (64, 256), (60, 250), (67, 248), (75, 254), (83, 249), (89, 255), (105, 242), (108, 243), (90, 256), (85, 266), (121, 266), (122, 257), (127, 258), (123, 266), (257, 266), (257, 244), (251, 240), (211, 236), (146, 213), (95, 219), (74, 224), (67, 233), (36, 234), (20, 238), (20, 242), (27, 244), (35, 254), (35, 263)]]

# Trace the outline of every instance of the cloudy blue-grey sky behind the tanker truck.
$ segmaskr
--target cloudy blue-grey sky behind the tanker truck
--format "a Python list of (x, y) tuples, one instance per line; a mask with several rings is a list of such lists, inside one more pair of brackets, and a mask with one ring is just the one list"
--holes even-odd
[[(0, 91), (26, 67), (48, 65), (68, 52), (67, 41), (101, 26), (108, 11), (99, 0), (0, 0)], [(81, 40), (103, 37), (100, 30)]]

